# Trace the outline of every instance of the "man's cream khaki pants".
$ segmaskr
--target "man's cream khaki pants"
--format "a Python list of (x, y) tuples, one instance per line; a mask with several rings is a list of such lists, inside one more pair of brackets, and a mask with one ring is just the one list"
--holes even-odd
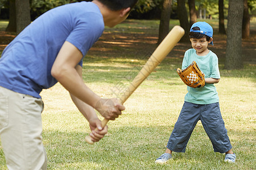
[(43, 101), (0, 86), (0, 138), (9, 170), (47, 169)]

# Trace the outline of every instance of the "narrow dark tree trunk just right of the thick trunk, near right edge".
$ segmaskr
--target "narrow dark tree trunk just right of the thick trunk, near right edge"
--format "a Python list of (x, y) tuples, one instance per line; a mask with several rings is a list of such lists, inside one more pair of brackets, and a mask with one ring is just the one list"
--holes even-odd
[(250, 37), (250, 15), (247, 0), (243, 0), (243, 22), (242, 22), (242, 38)]

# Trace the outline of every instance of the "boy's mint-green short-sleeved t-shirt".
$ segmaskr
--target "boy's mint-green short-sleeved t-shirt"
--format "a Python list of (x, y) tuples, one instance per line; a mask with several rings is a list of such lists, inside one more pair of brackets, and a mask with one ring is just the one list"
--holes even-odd
[[(205, 78), (220, 79), (218, 70), (218, 57), (211, 50), (206, 56), (198, 56), (195, 49), (189, 49), (185, 52), (182, 69), (185, 69), (193, 61), (196, 61), (199, 69), (205, 74)], [(185, 95), (185, 101), (194, 104), (217, 103), (218, 93), (214, 84), (206, 84), (202, 88), (187, 87), (188, 93)]]

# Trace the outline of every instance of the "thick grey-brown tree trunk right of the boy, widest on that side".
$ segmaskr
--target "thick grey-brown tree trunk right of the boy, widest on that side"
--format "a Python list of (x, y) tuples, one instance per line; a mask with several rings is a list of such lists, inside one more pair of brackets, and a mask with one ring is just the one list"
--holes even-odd
[(242, 69), (243, 1), (229, 0), (225, 69)]

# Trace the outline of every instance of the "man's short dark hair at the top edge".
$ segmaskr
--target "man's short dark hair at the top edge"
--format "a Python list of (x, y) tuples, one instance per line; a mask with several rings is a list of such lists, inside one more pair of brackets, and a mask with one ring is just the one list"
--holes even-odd
[(138, 0), (98, 0), (112, 11), (122, 10), (130, 7), (131, 9), (136, 5)]

